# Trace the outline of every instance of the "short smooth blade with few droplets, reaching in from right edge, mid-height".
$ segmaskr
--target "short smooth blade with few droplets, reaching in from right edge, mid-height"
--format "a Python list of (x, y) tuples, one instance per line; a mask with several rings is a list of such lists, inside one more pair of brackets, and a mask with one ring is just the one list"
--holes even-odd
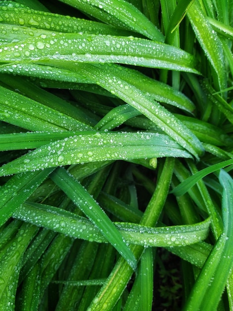
[(215, 172), (223, 167), (233, 164), (233, 159), (226, 160), (217, 164), (213, 164), (209, 167), (206, 167), (197, 173), (193, 174), (192, 176), (186, 178), (183, 182), (181, 182), (178, 186), (176, 186), (171, 193), (175, 194), (175, 196), (183, 195), (187, 192), (192, 186), (195, 185), (200, 179), (205, 177), (206, 175)]

